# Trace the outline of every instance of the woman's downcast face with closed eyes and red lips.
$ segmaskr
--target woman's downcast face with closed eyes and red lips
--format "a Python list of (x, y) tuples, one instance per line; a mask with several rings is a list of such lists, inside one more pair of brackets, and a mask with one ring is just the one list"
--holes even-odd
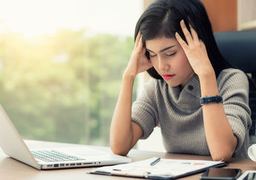
[(175, 38), (161, 37), (145, 43), (153, 67), (169, 86), (184, 87), (193, 77), (193, 68)]

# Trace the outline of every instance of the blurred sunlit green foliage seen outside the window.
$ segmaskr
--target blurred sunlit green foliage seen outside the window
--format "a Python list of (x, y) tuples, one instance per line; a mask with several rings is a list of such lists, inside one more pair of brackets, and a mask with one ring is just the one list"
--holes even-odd
[[(109, 144), (132, 37), (0, 34), (0, 103), (23, 138)], [(133, 94), (135, 98), (135, 91)]]

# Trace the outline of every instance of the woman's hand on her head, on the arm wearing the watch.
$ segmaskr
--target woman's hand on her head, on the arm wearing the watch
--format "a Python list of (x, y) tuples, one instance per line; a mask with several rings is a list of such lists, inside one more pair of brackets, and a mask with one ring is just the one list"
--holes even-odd
[(201, 39), (199, 39), (196, 30), (194, 30), (190, 25), (190, 33), (185, 25), (184, 20), (180, 22), (180, 25), (182, 27), (182, 31), (188, 44), (181, 38), (181, 36), (179, 36), (179, 33), (176, 33), (175, 36), (177, 41), (185, 51), (185, 54), (188, 57), (188, 61), (193, 68), (193, 71), (198, 76), (214, 71), (214, 68), (212, 67), (211, 62), (208, 58), (205, 44), (202, 42)]

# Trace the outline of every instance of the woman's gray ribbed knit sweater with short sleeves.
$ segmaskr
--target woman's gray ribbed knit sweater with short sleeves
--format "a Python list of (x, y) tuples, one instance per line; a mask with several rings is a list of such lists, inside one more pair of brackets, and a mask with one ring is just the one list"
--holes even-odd
[[(233, 157), (248, 158), (249, 83), (243, 71), (228, 68), (220, 72), (217, 86), (223, 97), (223, 107), (238, 144)], [(164, 80), (151, 79), (132, 104), (132, 121), (138, 123), (147, 138), (155, 126), (167, 152), (211, 155), (205, 138), (199, 78), (194, 75), (183, 89), (170, 87)], [(217, 113), (217, 112), (216, 112)]]

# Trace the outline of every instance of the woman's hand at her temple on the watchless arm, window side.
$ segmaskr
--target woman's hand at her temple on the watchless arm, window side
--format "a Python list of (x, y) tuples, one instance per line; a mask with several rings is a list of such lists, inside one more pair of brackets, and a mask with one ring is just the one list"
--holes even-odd
[(153, 67), (147, 59), (145, 52), (146, 49), (143, 47), (141, 31), (139, 31), (135, 40), (135, 47), (132, 50), (132, 56), (124, 74), (135, 78), (137, 74)]

